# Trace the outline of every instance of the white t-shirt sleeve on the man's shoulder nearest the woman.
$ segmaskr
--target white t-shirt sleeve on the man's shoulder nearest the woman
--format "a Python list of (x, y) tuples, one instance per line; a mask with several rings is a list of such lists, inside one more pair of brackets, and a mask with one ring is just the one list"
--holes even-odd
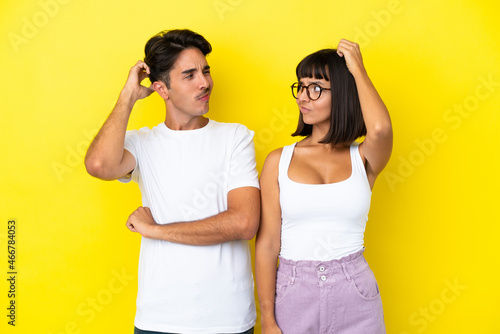
[(259, 188), (253, 136), (253, 131), (238, 125), (229, 165), (228, 191), (241, 187)]

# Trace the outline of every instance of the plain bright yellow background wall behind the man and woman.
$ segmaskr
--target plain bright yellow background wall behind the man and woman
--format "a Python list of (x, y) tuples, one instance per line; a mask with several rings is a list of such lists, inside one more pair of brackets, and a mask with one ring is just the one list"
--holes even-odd
[[(258, 169), (294, 141), (289, 86), (307, 54), (361, 45), (394, 125), (365, 253), (388, 333), (498, 333), (500, 25), (497, 1), (2, 1), (0, 263), (17, 221), (17, 318), (2, 333), (131, 333), (136, 185), (83, 157), (147, 39), (189, 28), (213, 46), (209, 117), (256, 133)], [(164, 119), (156, 95), (129, 128)], [(450, 286), (455, 286), (450, 288)], [(260, 333), (259, 321), (256, 332)]]

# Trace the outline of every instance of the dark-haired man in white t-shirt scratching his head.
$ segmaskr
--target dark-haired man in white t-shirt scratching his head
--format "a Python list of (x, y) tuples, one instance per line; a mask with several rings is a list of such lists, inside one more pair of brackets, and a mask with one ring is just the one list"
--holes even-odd
[[(253, 132), (204, 117), (211, 50), (189, 30), (152, 37), (85, 158), (89, 174), (134, 180), (142, 193), (126, 223), (143, 237), (135, 333), (253, 333)], [(165, 100), (165, 122), (126, 131), (135, 102), (153, 92)]]

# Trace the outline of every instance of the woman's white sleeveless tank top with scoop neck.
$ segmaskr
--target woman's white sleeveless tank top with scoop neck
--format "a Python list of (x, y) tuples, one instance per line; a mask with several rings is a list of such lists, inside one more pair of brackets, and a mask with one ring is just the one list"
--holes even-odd
[(329, 184), (298, 183), (288, 178), (296, 144), (283, 147), (279, 162), (280, 256), (295, 261), (327, 261), (361, 250), (371, 189), (359, 143), (350, 147), (351, 176)]

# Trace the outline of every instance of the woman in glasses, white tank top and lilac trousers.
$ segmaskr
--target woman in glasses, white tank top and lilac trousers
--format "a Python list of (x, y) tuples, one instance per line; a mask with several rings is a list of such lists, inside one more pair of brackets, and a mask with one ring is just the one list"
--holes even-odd
[(260, 180), (262, 332), (385, 333), (363, 236), (373, 185), (392, 151), (389, 113), (356, 43), (342, 39), (307, 56), (296, 74), (293, 136), (305, 138), (271, 152)]

